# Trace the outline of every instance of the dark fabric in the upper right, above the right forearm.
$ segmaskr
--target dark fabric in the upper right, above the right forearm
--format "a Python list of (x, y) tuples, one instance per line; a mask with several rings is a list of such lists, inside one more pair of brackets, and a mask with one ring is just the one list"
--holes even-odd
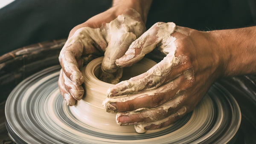
[(158, 21), (204, 31), (253, 26), (255, 3), (250, 6), (248, 0), (153, 0), (147, 28)]

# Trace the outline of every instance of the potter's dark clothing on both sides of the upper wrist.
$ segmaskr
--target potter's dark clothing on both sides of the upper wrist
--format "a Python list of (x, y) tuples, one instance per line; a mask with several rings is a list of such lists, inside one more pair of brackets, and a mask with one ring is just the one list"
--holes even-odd
[[(15, 0), (0, 9), (0, 55), (70, 30), (111, 7), (112, 0)], [(146, 27), (174, 22), (198, 30), (256, 24), (256, 0), (154, 0)]]

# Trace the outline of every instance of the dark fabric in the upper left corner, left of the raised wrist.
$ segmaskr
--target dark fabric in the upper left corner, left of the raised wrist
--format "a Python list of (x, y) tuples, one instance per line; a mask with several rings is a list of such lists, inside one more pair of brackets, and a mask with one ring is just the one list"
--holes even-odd
[(111, 7), (112, 0), (15, 0), (0, 9), (0, 55), (70, 30)]

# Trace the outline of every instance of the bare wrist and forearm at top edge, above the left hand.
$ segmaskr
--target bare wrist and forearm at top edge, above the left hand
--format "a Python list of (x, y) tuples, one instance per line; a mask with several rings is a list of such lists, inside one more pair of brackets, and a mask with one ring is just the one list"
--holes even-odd
[(112, 8), (117, 8), (117, 15), (122, 14), (126, 9), (135, 9), (146, 23), (151, 3), (152, 0), (113, 0)]

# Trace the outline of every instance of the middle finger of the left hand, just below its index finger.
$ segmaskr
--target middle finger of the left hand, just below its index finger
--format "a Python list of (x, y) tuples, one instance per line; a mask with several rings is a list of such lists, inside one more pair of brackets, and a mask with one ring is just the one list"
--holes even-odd
[(70, 81), (69, 78), (67, 78), (67, 76), (65, 75), (65, 73), (61, 70), (62, 73), (62, 78), (64, 81), (64, 86), (65, 89), (67, 90), (67, 92), (69, 92), (73, 98), (75, 98), (76, 100), (81, 100), (81, 98), (84, 95), (84, 88), (83, 86), (77, 86), (73, 83), (73, 81)]

